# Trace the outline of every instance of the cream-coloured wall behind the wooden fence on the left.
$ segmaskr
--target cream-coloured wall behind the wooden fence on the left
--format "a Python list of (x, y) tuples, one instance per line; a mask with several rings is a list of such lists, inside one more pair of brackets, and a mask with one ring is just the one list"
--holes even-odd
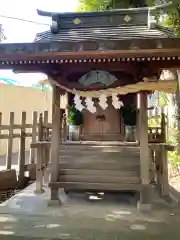
[[(62, 98), (61, 108), (65, 107), (65, 98)], [(21, 123), (21, 113), (26, 111), (26, 123), (32, 123), (33, 111), (42, 113), (48, 111), (49, 122), (51, 122), (52, 92), (50, 90), (39, 90), (31, 87), (19, 87), (13, 85), (0, 85), (0, 112), (2, 112), (2, 123), (9, 124), (10, 112), (15, 113), (15, 124)], [(7, 133), (7, 132), (6, 132)], [(29, 149), (31, 138), (26, 140), (26, 149)], [(0, 140), (0, 154), (5, 154), (7, 140)], [(19, 140), (13, 141), (13, 152), (19, 149)]]

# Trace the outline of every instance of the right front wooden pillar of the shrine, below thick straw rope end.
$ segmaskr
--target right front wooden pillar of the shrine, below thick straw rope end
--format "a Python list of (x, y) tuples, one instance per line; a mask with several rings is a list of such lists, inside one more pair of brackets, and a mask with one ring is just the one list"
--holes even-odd
[(149, 183), (148, 116), (146, 92), (140, 93), (139, 121), (141, 192), (138, 207), (140, 210), (149, 210), (151, 202), (151, 185)]

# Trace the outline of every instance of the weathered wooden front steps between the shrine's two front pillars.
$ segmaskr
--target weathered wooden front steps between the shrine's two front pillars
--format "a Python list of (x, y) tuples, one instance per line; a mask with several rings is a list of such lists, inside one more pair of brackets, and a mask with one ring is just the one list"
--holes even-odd
[(59, 181), (49, 185), (67, 190), (140, 191), (140, 149), (135, 143), (118, 142), (61, 145)]

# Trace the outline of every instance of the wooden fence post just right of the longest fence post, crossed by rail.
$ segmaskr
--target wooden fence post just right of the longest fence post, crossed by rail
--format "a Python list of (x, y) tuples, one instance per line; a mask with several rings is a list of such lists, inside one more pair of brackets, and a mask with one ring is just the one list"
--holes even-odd
[[(33, 126), (32, 126), (32, 143), (36, 143), (37, 137), (37, 112), (33, 112)], [(36, 149), (31, 148), (30, 151), (30, 164), (34, 164), (36, 161)]]

